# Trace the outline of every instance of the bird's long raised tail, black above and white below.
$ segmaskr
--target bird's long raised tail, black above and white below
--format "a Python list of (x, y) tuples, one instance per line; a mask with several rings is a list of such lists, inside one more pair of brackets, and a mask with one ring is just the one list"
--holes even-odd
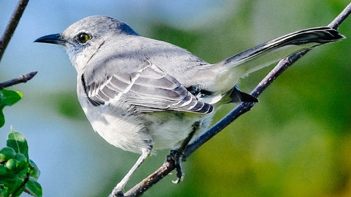
[(336, 29), (330, 27), (315, 27), (304, 29), (276, 38), (269, 42), (260, 44), (252, 49), (248, 49), (229, 57), (213, 67), (217, 68), (217, 79), (212, 90), (222, 90), (226, 92), (236, 84), (243, 75), (255, 70), (269, 66), (278, 62), (283, 57), (287, 57), (298, 51), (311, 49), (320, 44), (335, 42), (345, 38)]

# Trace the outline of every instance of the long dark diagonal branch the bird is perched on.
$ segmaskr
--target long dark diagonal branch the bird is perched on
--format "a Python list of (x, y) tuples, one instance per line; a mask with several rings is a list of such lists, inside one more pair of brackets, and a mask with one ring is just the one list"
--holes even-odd
[[(350, 15), (351, 13), (351, 3), (337, 16), (334, 21), (332, 21), (328, 27), (332, 27), (333, 29), (337, 29), (339, 25)], [(299, 53), (295, 53), (290, 55), (289, 57), (285, 57), (280, 60), (277, 66), (271, 70), (271, 72), (260, 82), (258, 86), (252, 90), (252, 96), (259, 96), (262, 92), (279, 76), (281, 75), (289, 66), (298, 61), (300, 57), (306, 55), (309, 50), (300, 51)], [(217, 135), (220, 131), (222, 131), (225, 127), (228, 126), (231, 122), (236, 120), (242, 114), (245, 114), (247, 111), (254, 107), (254, 103), (241, 103), (238, 107), (230, 111), (223, 119), (221, 119), (217, 124), (208, 129), (205, 133), (199, 136), (193, 143), (187, 146), (184, 151), (183, 161), (185, 161), (186, 157), (189, 157), (191, 153), (193, 153), (197, 148), (202, 146), (205, 142), (210, 140), (213, 136)], [(152, 187), (155, 183), (160, 181), (163, 177), (167, 176), (169, 172), (175, 169), (175, 165), (172, 162), (165, 162), (156, 172), (150, 174), (140, 183), (136, 184), (132, 189), (128, 192), (125, 192), (124, 196), (141, 196), (149, 187)]]

